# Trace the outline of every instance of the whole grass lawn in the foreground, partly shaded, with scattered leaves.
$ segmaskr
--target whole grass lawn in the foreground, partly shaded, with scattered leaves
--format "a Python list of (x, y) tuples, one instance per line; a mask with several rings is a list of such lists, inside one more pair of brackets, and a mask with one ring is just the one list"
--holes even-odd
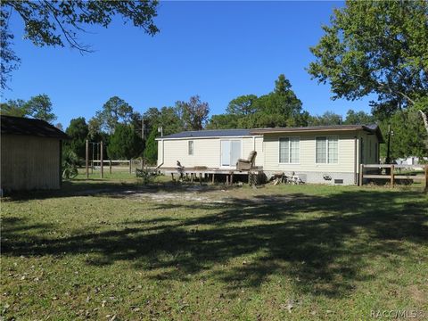
[(428, 317), (426, 193), (82, 178), (3, 200), (4, 319)]

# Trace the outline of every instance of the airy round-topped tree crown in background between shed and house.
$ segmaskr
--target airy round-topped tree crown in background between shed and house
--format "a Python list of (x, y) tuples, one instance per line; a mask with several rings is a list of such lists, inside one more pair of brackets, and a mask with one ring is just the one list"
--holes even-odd
[(129, 124), (133, 115), (132, 107), (118, 96), (111, 97), (103, 104), (102, 111), (96, 111), (100, 129), (113, 133), (119, 122)]

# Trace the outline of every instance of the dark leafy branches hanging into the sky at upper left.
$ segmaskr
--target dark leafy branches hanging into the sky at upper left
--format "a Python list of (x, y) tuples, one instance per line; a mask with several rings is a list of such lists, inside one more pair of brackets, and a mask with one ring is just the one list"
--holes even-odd
[(91, 52), (90, 46), (78, 41), (78, 33), (85, 25), (100, 25), (107, 28), (113, 17), (119, 15), (124, 23), (131, 21), (136, 27), (154, 36), (159, 29), (154, 25), (158, 2), (141, 1), (30, 1), (4, 0), (0, 13), (1, 85), (5, 87), (12, 70), (17, 68), (19, 58), (11, 45), (13, 34), (8, 26), (12, 12), (18, 13), (25, 26), (24, 38), (36, 46), (61, 46), (65, 44), (80, 53)]

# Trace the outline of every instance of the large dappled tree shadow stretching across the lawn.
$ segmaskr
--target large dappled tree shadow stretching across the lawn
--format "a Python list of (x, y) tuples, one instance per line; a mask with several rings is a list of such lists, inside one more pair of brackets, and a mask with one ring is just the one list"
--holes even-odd
[[(287, 276), (300, 292), (334, 297), (351, 292), (356, 281), (374, 277), (362, 272), (371, 259), (413, 255), (407, 243), (426, 246), (427, 205), (422, 193), (382, 190), (157, 203), (155, 208), (167, 213), (204, 214), (128, 221), (98, 233), (82, 227), (81, 233), (61, 239), (44, 236), (43, 228), (51, 226), (5, 220), (2, 250), (9, 256), (91, 253), (96, 259), (87, 264), (131, 260), (155, 278), (186, 280), (201, 273), (233, 290)], [(42, 228), (39, 235), (25, 235), (26, 228), (36, 227)], [(239, 262), (230, 264), (234, 260)]]

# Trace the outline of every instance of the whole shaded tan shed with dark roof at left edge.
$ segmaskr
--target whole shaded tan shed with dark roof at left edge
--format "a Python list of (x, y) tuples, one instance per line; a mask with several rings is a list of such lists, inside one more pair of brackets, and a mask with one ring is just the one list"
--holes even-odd
[(58, 189), (62, 182), (60, 129), (41, 119), (1, 116), (3, 191)]

